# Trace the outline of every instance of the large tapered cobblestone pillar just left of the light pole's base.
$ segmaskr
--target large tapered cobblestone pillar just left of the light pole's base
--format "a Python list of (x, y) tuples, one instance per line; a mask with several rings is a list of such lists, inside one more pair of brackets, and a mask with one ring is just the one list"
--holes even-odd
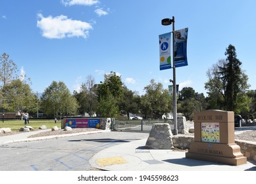
[(174, 149), (169, 124), (153, 124), (145, 145), (151, 149)]

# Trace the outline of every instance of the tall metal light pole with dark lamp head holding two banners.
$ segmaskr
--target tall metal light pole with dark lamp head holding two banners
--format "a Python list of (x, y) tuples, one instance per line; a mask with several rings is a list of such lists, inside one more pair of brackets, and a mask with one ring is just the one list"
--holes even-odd
[(177, 93), (176, 93), (176, 68), (175, 68), (175, 62), (174, 62), (174, 16), (172, 16), (172, 19), (165, 18), (162, 20), (163, 26), (169, 26), (172, 24), (172, 69), (173, 69), (173, 120), (174, 120), (174, 135), (178, 135), (178, 126), (177, 126)]

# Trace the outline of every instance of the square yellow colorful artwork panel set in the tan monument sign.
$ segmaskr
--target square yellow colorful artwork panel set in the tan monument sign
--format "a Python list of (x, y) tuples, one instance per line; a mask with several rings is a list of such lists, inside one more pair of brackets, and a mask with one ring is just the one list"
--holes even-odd
[(220, 143), (220, 124), (201, 123), (201, 141), (207, 143)]

